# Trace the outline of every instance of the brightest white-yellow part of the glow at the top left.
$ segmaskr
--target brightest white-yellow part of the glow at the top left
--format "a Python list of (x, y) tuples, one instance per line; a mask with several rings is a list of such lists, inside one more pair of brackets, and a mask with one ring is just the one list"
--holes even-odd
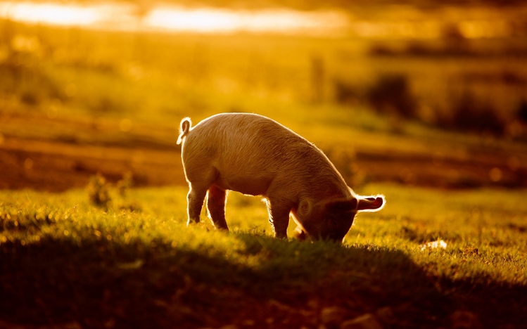
[(48, 25), (105, 30), (231, 33), (277, 32), (335, 34), (348, 17), (338, 11), (303, 12), (292, 9), (232, 11), (220, 8), (159, 6), (139, 15), (127, 4), (73, 5), (0, 2), (0, 18)]

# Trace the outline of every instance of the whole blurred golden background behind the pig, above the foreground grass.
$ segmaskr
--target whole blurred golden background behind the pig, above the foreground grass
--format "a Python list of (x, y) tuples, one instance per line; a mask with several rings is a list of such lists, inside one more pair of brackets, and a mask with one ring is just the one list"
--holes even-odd
[(0, 188), (184, 184), (179, 121), (255, 112), (353, 188), (527, 186), (519, 0), (1, 1)]

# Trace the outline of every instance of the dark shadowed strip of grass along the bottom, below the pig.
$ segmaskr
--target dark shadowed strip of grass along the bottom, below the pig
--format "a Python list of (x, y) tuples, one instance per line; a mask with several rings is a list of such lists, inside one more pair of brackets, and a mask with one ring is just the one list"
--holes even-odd
[[(430, 278), (398, 250), (234, 236), (245, 245), (235, 257), (163, 241), (86, 239), (79, 245), (64, 237), (3, 243), (0, 326), (198, 328), (265, 324), (281, 314), (296, 318), (289, 325), (299, 328), (317, 326), (327, 307), (341, 307), (350, 318), (389, 307), (391, 327), (438, 327), (449, 324), (459, 298), (471, 311), (490, 304), (474, 311), (490, 323), (500, 324), (500, 318), (492, 321), (492, 307), (504, 311), (509, 323), (523, 321), (525, 304), (514, 304), (525, 302), (523, 286)], [(509, 304), (499, 309), (501, 297)]]

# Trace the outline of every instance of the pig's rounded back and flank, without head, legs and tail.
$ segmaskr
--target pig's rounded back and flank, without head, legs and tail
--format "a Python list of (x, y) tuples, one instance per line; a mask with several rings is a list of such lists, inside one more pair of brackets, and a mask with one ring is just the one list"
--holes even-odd
[(261, 115), (209, 117), (189, 132), (183, 152), (184, 158), (192, 158), (184, 162), (207, 162), (214, 167), (217, 185), (246, 194), (265, 195), (272, 182), (303, 182), (309, 188), (317, 180), (327, 182), (330, 176), (330, 181), (338, 181), (339, 190), (345, 188), (340, 174), (318, 148)]

